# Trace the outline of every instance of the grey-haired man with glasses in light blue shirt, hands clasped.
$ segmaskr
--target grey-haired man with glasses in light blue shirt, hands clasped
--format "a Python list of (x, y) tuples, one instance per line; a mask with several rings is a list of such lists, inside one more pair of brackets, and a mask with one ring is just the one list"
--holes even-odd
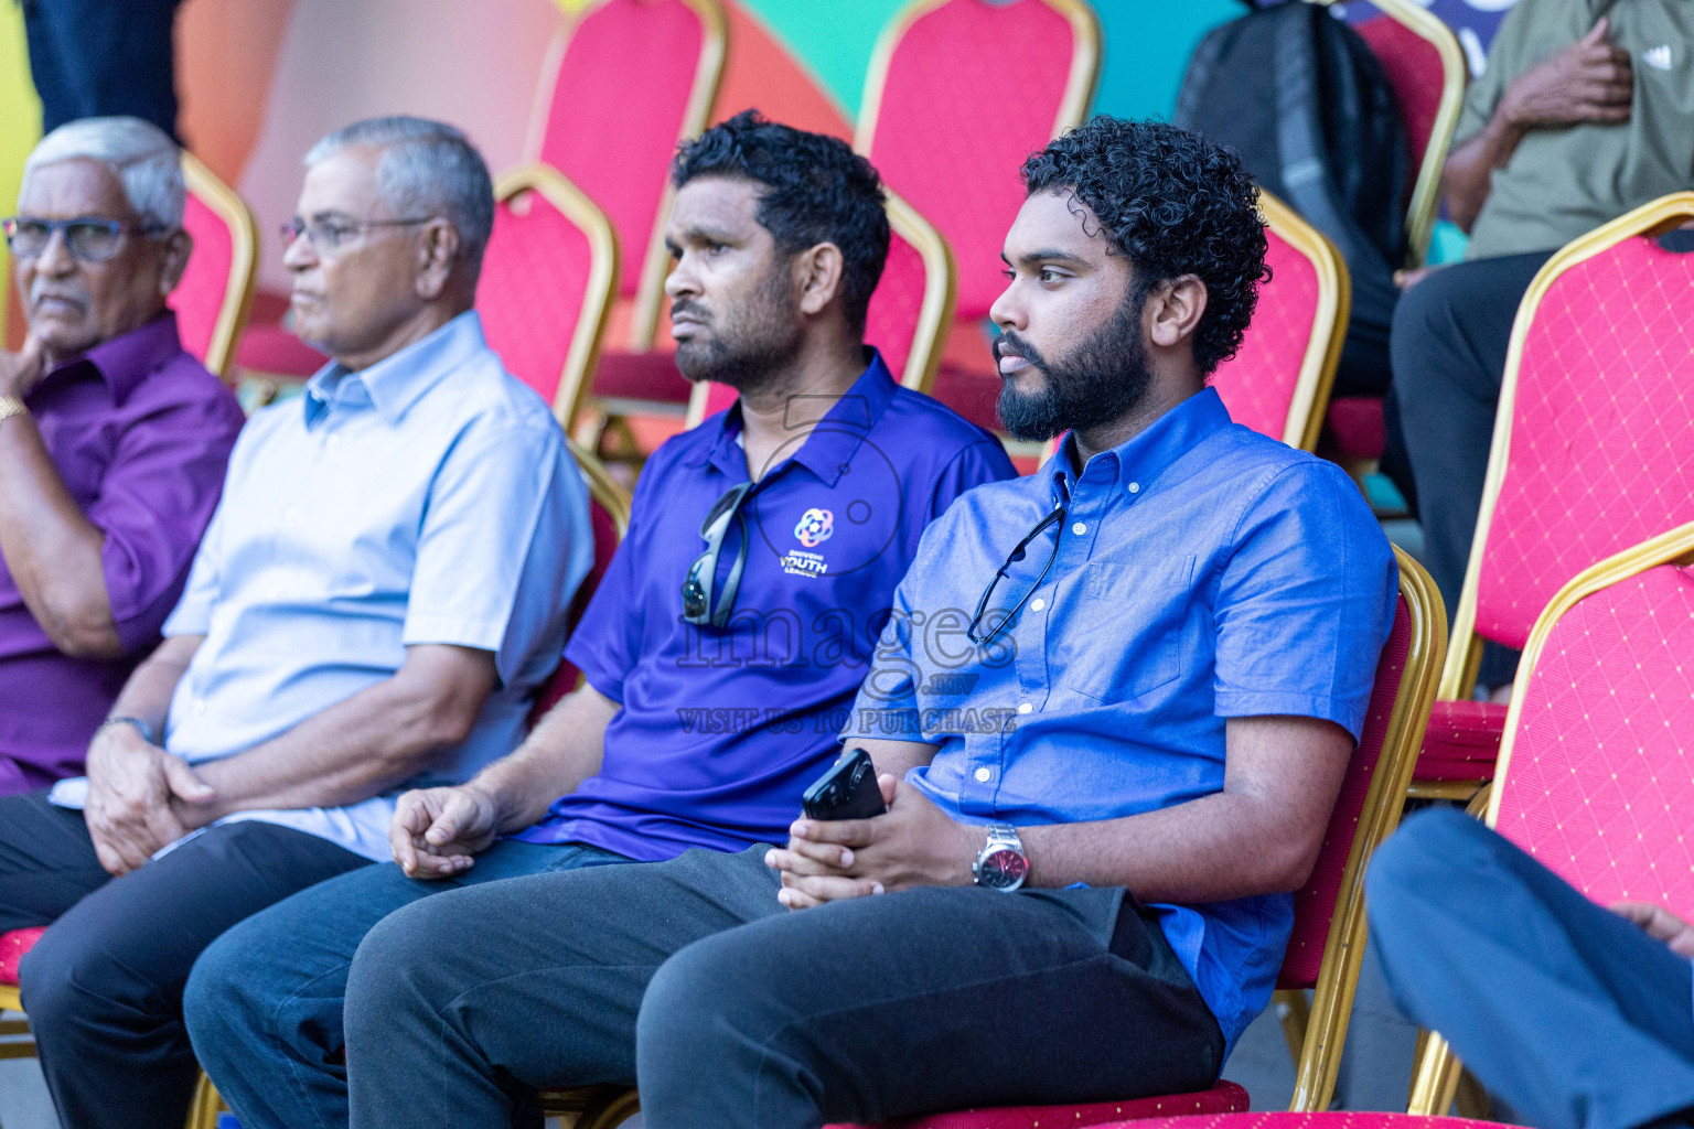
[[(588, 499), (483, 340), (493, 212), (447, 125), (376, 118), (312, 149), (285, 262), (295, 327), (334, 362), (242, 432), (88, 777), (0, 801), (0, 931), (47, 926), (20, 978), (68, 1126), (181, 1126), (200, 951), (386, 858), (401, 787), (507, 753), (559, 662)], [(78, 239), (100, 234), (47, 245)]]

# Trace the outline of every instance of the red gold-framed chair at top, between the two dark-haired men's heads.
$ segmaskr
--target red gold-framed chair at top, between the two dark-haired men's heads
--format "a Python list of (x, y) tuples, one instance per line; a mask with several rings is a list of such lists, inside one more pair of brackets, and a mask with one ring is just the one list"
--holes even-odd
[[(1018, 66), (1006, 66), (1006, 52)], [(1018, 166), (1082, 120), (1099, 24), (1082, 0), (915, 0), (871, 56), (854, 149), (947, 237), (959, 259), (959, 340), (935, 398), (994, 428), (999, 377), (979, 323), (1005, 289), (999, 247), (1023, 205)], [(991, 120), (983, 91), (994, 91)]]

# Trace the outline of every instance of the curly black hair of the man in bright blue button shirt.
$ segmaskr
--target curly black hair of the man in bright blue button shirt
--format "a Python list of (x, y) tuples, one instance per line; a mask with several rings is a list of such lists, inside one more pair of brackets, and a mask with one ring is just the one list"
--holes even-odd
[(1235, 355), (1270, 269), (1259, 186), (1233, 151), (1177, 125), (1101, 113), (1030, 154), (1023, 183), (1032, 196), (1069, 190), (1099, 217), (1135, 266), (1132, 293), (1198, 276), (1206, 313), (1194, 364), (1211, 374)]

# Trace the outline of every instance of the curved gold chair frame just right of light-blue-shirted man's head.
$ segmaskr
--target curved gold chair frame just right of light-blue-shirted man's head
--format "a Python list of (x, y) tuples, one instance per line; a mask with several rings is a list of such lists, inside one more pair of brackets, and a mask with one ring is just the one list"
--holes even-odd
[(588, 284), (583, 289), (583, 308), (571, 333), (571, 349), (559, 372), (559, 388), (552, 398), (552, 413), (566, 435), (576, 425), (583, 403), (588, 399), (590, 376), (600, 359), (600, 345), (612, 315), (612, 300), (618, 284), (618, 237), (606, 213), (557, 169), (545, 164), (523, 164), (503, 173), (495, 181), (495, 200), (508, 203), (525, 191), (540, 195), (557, 208), (579, 232), (588, 237), (591, 262)]

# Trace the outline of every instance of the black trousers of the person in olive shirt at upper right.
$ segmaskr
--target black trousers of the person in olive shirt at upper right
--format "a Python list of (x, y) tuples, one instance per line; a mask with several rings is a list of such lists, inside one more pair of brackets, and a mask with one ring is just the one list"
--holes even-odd
[[(1389, 415), (1398, 413), (1416, 486), (1423, 564), (1442, 589), (1448, 620), (1459, 606), (1482, 509), (1511, 323), (1548, 257), (1552, 252), (1543, 251), (1455, 262), (1408, 289), (1394, 308)], [(1482, 682), (1509, 682), (1514, 655), (1492, 650)]]

